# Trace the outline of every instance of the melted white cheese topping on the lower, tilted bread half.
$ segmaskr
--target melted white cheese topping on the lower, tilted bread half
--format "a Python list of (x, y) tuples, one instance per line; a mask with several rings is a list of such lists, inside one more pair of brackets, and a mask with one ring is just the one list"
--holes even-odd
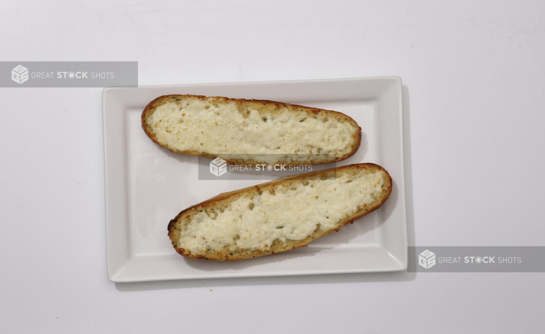
[[(320, 224), (329, 231), (339, 221), (354, 215), (358, 207), (373, 203), (380, 194), (384, 174), (337, 175), (329, 180), (307, 180), (307, 185), (277, 186), (275, 194), (243, 195), (223, 212), (193, 215), (181, 233), (180, 245), (191, 251), (235, 244), (243, 249), (269, 249), (280, 239), (301, 240)], [(252, 197), (253, 196), (253, 199)], [(251, 208), (251, 209), (250, 209)], [(229, 249), (234, 249), (229, 246)]]

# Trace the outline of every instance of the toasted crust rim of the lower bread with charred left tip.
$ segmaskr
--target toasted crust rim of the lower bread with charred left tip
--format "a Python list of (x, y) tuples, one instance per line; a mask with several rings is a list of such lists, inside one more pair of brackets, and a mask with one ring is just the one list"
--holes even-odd
[[(268, 191), (269, 189), (273, 187), (288, 183), (293, 180), (308, 180), (311, 178), (328, 178), (328, 177), (331, 177), (331, 175), (335, 175), (337, 172), (350, 172), (350, 171), (358, 171), (358, 170), (384, 171), (386, 175), (385, 179), (383, 180), (384, 189), (382, 193), (380, 194), (379, 199), (377, 199), (377, 201), (374, 202), (373, 205), (367, 206), (365, 208), (361, 208), (361, 210), (356, 212), (354, 215), (339, 221), (336, 227), (332, 228), (331, 230), (323, 231), (318, 226), (316, 230), (310, 236), (302, 240), (288, 239), (286, 240), (285, 243), (283, 243), (280, 240), (276, 239), (274, 240), (270, 248), (267, 250), (243, 249), (243, 250), (237, 250), (235, 252), (229, 252), (229, 251), (222, 252), (222, 251), (214, 250), (214, 251), (207, 252), (205, 255), (203, 255), (203, 254), (192, 253), (191, 250), (186, 250), (180, 245), (178, 245), (180, 233), (183, 228), (184, 218), (189, 218), (190, 215), (198, 212), (199, 209), (214, 207), (217, 205), (231, 202), (232, 200), (236, 199), (238, 196), (243, 195), (245, 193), (249, 193), (251, 191), (256, 191), (256, 192)], [(194, 258), (194, 259), (215, 260), (215, 261), (237, 261), (240, 259), (274, 254), (274, 253), (283, 252), (290, 249), (306, 246), (308, 243), (310, 243), (314, 239), (323, 237), (326, 234), (332, 233), (334, 231), (338, 231), (341, 227), (347, 225), (348, 223), (352, 223), (354, 222), (354, 220), (360, 217), (363, 217), (364, 215), (379, 208), (388, 199), (388, 197), (390, 196), (391, 190), (392, 190), (392, 178), (390, 174), (388, 174), (388, 172), (381, 166), (372, 164), (372, 163), (346, 165), (346, 166), (340, 166), (337, 168), (314, 171), (314, 172), (310, 172), (306, 174), (283, 177), (278, 180), (255, 185), (253, 187), (248, 187), (244, 189), (230, 191), (228, 193), (223, 193), (215, 197), (212, 197), (211, 199), (208, 199), (204, 202), (198, 203), (197, 205), (191, 206), (185, 209), (184, 211), (181, 211), (174, 219), (172, 219), (168, 223), (168, 237), (171, 239), (174, 249), (180, 255), (184, 257)]]

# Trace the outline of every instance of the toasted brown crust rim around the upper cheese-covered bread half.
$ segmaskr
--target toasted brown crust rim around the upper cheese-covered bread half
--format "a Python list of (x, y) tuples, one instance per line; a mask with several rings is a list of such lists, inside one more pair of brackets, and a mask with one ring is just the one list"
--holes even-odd
[[(160, 141), (158, 140), (156, 134), (153, 131), (152, 124), (150, 122), (148, 122), (148, 117), (153, 115), (153, 113), (155, 112), (155, 109), (157, 107), (161, 106), (162, 104), (165, 104), (167, 102), (172, 101), (173, 98), (183, 99), (183, 98), (187, 98), (187, 97), (197, 98), (198, 100), (202, 100), (202, 101), (206, 101), (206, 100), (208, 100), (210, 98), (213, 98), (213, 99), (217, 100), (217, 102), (233, 101), (233, 102), (237, 103), (239, 106), (240, 105), (252, 105), (252, 106), (254, 106), (256, 108), (262, 108), (263, 106), (265, 106), (265, 107), (268, 108), (268, 110), (267, 110), (268, 112), (271, 112), (271, 111), (274, 112), (275, 111), (274, 109), (270, 109), (271, 107), (280, 107), (282, 105), (282, 106), (286, 106), (290, 110), (294, 110), (294, 109), (303, 110), (304, 112), (307, 112), (308, 114), (326, 113), (326, 114), (328, 114), (328, 115), (330, 115), (332, 117), (335, 117), (338, 120), (343, 120), (343, 121), (346, 121), (346, 122), (353, 123), (353, 125), (355, 126), (357, 131), (351, 135), (351, 137), (353, 138), (353, 144), (350, 146), (351, 147), (350, 152), (348, 152), (346, 154), (343, 154), (340, 157), (336, 157), (336, 159), (325, 159), (325, 158), (322, 158), (322, 159), (314, 158), (313, 159), (313, 158), (310, 158), (307, 161), (300, 162), (298, 164), (309, 164), (309, 165), (310, 164), (326, 164), (326, 163), (341, 161), (341, 160), (344, 160), (344, 159), (347, 159), (347, 158), (353, 156), (353, 154), (356, 151), (358, 151), (358, 148), (360, 147), (360, 144), (361, 144), (361, 127), (358, 126), (358, 123), (356, 123), (351, 117), (349, 117), (349, 116), (347, 116), (347, 115), (345, 115), (343, 113), (340, 113), (340, 112), (335, 112), (334, 110), (311, 108), (311, 107), (299, 106), (298, 104), (289, 104), (289, 103), (275, 102), (275, 101), (269, 101), (269, 100), (246, 100), (244, 98), (228, 98), (228, 97), (221, 97), (221, 96), (203, 96), (203, 95), (190, 95), (190, 94), (187, 94), (187, 95), (176, 95), (176, 94), (174, 94), (174, 95), (163, 95), (163, 96), (160, 96), (158, 98), (155, 98), (155, 100), (148, 103), (146, 108), (144, 108), (144, 110), (142, 112), (142, 116), (141, 116), (142, 129), (144, 130), (146, 135), (150, 139), (152, 139), (156, 144), (158, 144), (159, 146), (164, 147), (165, 149), (167, 149), (169, 151), (172, 151), (174, 153), (190, 154), (192, 156), (201, 156), (201, 157), (211, 158), (211, 159), (215, 159), (215, 158), (218, 157), (217, 155), (211, 154), (209, 152), (201, 152), (201, 151), (195, 151), (195, 150), (179, 151), (177, 149), (173, 149), (172, 147), (168, 147), (167, 145), (160, 143)], [(276, 111), (278, 111), (278, 110), (276, 110)], [(239, 152), (235, 152), (235, 153), (239, 153)], [(223, 157), (223, 159), (226, 160), (228, 164), (240, 164), (240, 165), (250, 165), (250, 164), (252, 164), (253, 165), (253, 164), (266, 163), (266, 162), (263, 162), (261, 160), (254, 160), (254, 159), (235, 159), (235, 158), (225, 158), (225, 157)], [(277, 163), (291, 165), (291, 163), (288, 162), (288, 161), (278, 161)]]

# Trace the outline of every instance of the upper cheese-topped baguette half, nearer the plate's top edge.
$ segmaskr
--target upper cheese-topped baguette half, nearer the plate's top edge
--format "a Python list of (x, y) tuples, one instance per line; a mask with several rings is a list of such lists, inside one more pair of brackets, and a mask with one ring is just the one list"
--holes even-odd
[(332, 163), (361, 141), (358, 124), (332, 110), (200, 95), (156, 98), (142, 112), (142, 128), (172, 152), (245, 165)]

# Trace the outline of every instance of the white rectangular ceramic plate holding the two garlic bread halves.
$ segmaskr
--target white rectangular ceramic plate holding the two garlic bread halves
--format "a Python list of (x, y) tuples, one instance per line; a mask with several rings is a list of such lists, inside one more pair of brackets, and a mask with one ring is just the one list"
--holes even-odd
[[(393, 180), (392, 194), (379, 210), (305, 248), (251, 262), (182, 258), (166, 233), (168, 221), (178, 212), (220, 193), (276, 177), (198, 180), (197, 157), (174, 154), (150, 141), (142, 131), (142, 110), (154, 98), (174, 92), (253, 97), (347, 114), (361, 125), (362, 144), (358, 152), (337, 165), (372, 162), (383, 166)], [(401, 93), (397, 77), (105, 89), (108, 279), (136, 282), (407, 269)]]

